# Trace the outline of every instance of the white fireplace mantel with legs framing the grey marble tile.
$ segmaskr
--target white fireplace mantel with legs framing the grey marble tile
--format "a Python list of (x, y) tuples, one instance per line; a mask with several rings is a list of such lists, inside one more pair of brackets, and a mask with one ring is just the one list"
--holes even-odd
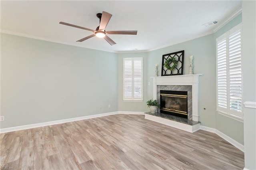
[(153, 99), (157, 99), (157, 85), (192, 85), (192, 120), (199, 121), (199, 76), (202, 74), (172, 75), (153, 78)]

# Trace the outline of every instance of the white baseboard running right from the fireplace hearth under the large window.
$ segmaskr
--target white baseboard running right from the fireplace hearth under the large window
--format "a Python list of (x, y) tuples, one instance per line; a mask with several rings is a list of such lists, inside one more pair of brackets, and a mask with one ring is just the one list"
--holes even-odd
[(218, 136), (220, 136), (221, 138), (228, 141), (230, 144), (232, 144), (233, 146), (235, 146), (236, 148), (238, 148), (239, 150), (244, 152), (244, 145), (240, 144), (239, 142), (230, 138), (229, 136), (220, 132), (219, 130), (217, 130), (215, 128), (205, 127), (205, 126), (202, 126), (202, 125), (200, 126), (200, 129), (217, 134)]

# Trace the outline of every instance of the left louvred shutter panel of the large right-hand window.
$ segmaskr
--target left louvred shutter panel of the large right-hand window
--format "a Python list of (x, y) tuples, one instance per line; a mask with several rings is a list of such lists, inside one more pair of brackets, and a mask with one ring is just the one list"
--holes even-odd
[(227, 108), (226, 38), (217, 42), (218, 107)]

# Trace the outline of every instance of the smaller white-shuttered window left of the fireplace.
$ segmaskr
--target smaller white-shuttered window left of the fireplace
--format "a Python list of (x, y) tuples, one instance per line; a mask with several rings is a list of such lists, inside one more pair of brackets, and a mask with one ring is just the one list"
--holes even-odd
[(142, 58), (123, 58), (123, 99), (143, 100)]

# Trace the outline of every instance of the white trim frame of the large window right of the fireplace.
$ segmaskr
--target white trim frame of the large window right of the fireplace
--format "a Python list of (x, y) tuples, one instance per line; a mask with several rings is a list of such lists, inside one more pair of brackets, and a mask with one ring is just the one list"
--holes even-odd
[[(228, 42), (228, 38), (229, 38), (229, 35), (233, 34), (234, 32), (240, 30), (241, 31), (241, 34), (242, 34), (242, 23), (238, 24), (237, 26), (235, 26), (234, 28), (230, 29), (229, 31), (227, 31), (226, 33), (224, 33), (223, 35), (219, 36), (218, 38), (216, 38), (216, 108), (217, 108), (217, 112), (218, 114), (220, 115), (223, 115), (223, 116), (226, 116), (226, 117), (229, 117), (231, 119), (234, 119), (236, 121), (240, 121), (240, 122), (244, 122), (244, 115), (243, 115), (243, 111), (244, 111), (244, 106), (242, 105), (242, 112), (241, 114), (239, 115), (238, 112), (236, 111), (232, 111), (229, 109), (229, 99), (228, 99), (228, 105), (227, 105), (227, 110), (228, 110), (228, 113), (226, 113), (226, 110), (222, 107), (218, 107), (218, 58), (217, 58), (217, 53), (218, 53), (218, 49), (217, 49), (217, 43), (226, 38), (226, 42)], [(242, 37), (242, 36), (241, 36)], [(242, 38), (241, 38), (241, 42), (242, 42)], [(227, 51), (229, 50), (229, 47), (227, 47), (226, 49)], [(229, 60), (229, 58), (227, 59)], [(241, 43), (241, 66), (242, 66), (242, 43)], [(227, 63), (227, 67), (228, 66), (228, 63)], [(229, 69), (229, 68), (228, 68)], [(243, 72), (241, 73), (242, 74), (242, 77), (243, 77)], [(229, 73), (227, 71), (227, 79), (229, 78)], [(229, 83), (228, 83), (228, 87), (227, 87), (227, 97), (229, 98)], [(242, 101), (243, 101), (243, 78), (242, 78)]]

